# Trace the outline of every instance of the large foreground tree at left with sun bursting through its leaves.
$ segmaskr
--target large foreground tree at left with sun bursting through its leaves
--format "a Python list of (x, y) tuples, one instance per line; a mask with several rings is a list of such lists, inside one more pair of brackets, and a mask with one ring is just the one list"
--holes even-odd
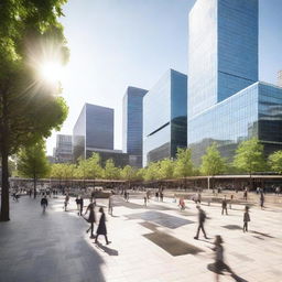
[(63, 26), (66, 0), (6, 0), (0, 3), (0, 154), (2, 195), (0, 220), (10, 220), (8, 159), (59, 129), (67, 107), (58, 84), (39, 75), (44, 61), (66, 63)]

